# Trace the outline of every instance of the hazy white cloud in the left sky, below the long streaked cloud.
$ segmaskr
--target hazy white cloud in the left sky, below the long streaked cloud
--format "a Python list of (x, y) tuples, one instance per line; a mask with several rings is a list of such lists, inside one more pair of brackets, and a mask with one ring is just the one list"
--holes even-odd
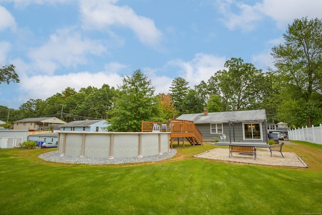
[(43, 46), (33, 48), (28, 56), (33, 60), (35, 70), (52, 75), (60, 66), (76, 67), (77, 64), (86, 64), (88, 54), (100, 55), (105, 51), (101, 41), (62, 29), (50, 35), (48, 42)]

